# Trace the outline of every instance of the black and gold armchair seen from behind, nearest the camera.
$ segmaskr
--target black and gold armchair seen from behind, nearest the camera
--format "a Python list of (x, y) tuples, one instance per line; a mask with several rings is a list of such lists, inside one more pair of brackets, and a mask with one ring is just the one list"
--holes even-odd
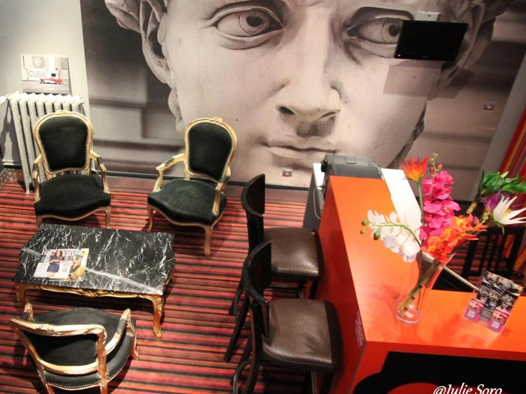
[(48, 394), (54, 388), (99, 387), (123, 369), (128, 356), (137, 359), (135, 321), (126, 309), (119, 317), (102, 310), (75, 308), (33, 314), (26, 304), (11, 326), (35, 361)]

